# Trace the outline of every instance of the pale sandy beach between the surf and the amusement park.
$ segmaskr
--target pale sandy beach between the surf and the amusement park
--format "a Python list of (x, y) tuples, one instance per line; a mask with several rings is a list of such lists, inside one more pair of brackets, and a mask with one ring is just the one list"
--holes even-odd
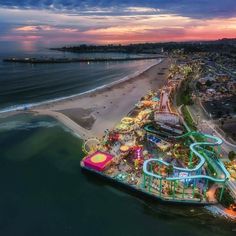
[(31, 112), (56, 118), (83, 139), (100, 138), (105, 129), (113, 128), (149, 90), (158, 90), (166, 83), (169, 65), (170, 59), (164, 59), (127, 81), (40, 105)]

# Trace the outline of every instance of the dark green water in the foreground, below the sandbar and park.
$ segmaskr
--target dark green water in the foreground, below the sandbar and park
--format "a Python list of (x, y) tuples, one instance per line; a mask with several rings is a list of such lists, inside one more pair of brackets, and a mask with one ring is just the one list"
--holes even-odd
[(0, 118), (0, 235), (235, 235), (203, 207), (139, 198), (81, 171), (81, 144), (49, 117)]

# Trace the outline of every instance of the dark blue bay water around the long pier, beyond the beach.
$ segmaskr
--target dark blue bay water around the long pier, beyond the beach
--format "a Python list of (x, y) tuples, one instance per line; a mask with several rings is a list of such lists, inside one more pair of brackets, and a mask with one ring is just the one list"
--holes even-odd
[[(12, 53), (0, 55), (0, 112), (95, 90), (118, 80), (133, 77), (160, 61), (155, 59), (64, 64), (24, 64), (2, 61), (2, 58), (13, 55)], [(44, 50), (27, 54), (17, 53), (14, 56), (122, 58), (128, 55), (75, 54)]]

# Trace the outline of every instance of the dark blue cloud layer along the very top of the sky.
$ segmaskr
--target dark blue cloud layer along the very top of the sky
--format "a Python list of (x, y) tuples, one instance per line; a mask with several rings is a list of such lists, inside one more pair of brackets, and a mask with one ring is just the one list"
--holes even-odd
[[(81, 15), (158, 14), (155, 9), (160, 9), (160, 13), (173, 13), (192, 18), (236, 16), (235, 0), (0, 0), (0, 6), (50, 9)], [(153, 10), (135, 11), (132, 9), (134, 7), (153, 8)]]

